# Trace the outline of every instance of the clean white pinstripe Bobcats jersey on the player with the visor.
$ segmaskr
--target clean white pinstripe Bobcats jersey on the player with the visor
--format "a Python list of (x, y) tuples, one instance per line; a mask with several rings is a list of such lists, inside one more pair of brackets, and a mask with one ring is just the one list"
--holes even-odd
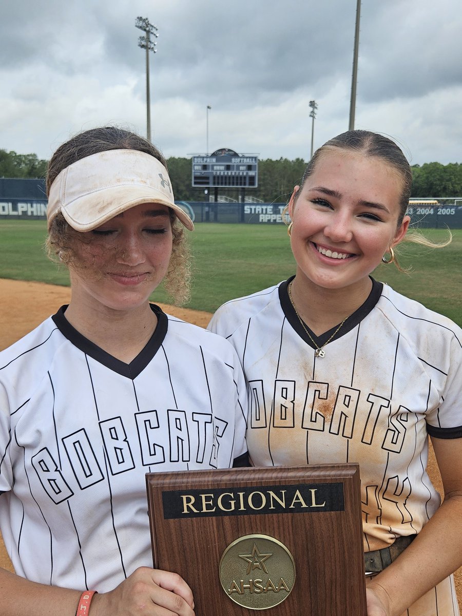
[(129, 365), (62, 309), (0, 353), (0, 530), (23, 577), (114, 588), (152, 566), (146, 472), (229, 468), (246, 452), (234, 349), (153, 310)]

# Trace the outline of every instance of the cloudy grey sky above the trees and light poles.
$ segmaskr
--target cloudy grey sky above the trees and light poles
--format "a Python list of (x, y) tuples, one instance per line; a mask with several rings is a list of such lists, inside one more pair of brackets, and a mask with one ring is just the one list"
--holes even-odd
[[(0, 148), (49, 158), (108, 123), (145, 135), (139, 15), (158, 28), (152, 140), (166, 156), (307, 160), (310, 100), (314, 148), (348, 129), (356, 0), (0, 0)], [(360, 16), (355, 128), (393, 137), (411, 164), (462, 162), (460, 0), (363, 0)]]

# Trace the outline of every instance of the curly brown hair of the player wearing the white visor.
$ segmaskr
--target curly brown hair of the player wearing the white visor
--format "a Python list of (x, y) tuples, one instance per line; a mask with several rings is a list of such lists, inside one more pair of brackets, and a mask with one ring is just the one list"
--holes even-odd
[[(102, 126), (81, 132), (69, 139), (56, 150), (47, 166), (46, 191), (60, 172), (78, 160), (107, 150), (138, 150), (153, 156), (167, 167), (160, 150), (144, 137), (116, 126)], [(183, 225), (173, 212), (170, 215), (172, 225), (172, 254), (163, 286), (175, 304), (185, 304), (190, 299), (191, 254)], [(72, 229), (62, 214), (57, 214), (51, 221), (46, 239), (46, 252), (55, 262), (62, 262), (68, 267), (78, 267), (75, 257), (75, 242), (86, 241), (84, 233)]]

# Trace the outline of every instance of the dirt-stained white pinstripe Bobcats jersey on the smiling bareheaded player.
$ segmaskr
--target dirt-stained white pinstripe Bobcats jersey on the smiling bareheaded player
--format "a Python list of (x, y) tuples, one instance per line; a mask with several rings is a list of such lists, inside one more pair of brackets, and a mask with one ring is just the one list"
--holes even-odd
[[(428, 433), (462, 437), (455, 323), (373, 281), (315, 357), (283, 282), (227, 302), (209, 329), (241, 359), (255, 466), (357, 462), (365, 551), (421, 530), (440, 505), (426, 472)], [(318, 346), (334, 330), (312, 334)]]

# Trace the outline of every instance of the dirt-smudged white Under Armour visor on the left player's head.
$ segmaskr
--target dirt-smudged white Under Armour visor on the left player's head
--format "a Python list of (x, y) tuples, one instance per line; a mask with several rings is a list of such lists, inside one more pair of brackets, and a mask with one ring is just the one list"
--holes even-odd
[(138, 150), (108, 150), (81, 158), (63, 169), (50, 188), (48, 228), (61, 212), (76, 231), (91, 231), (140, 203), (161, 203), (184, 226), (194, 225), (176, 205), (167, 169)]

